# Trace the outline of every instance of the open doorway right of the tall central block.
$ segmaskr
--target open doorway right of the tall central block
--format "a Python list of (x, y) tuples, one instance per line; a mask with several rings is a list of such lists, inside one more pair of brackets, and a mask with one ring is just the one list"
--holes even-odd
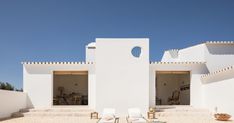
[(190, 71), (157, 71), (156, 105), (190, 105)]

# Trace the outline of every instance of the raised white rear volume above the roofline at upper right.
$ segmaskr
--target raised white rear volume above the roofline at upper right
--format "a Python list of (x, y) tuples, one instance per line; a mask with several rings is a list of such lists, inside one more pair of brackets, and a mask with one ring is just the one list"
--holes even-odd
[(165, 62), (200, 61), (206, 62), (210, 72), (233, 65), (234, 45), (233, 44), (199, 44), (188, 48), (180, 49), (178, 58), (172, 58), (169, 51), (165, 51), (162, 57)]

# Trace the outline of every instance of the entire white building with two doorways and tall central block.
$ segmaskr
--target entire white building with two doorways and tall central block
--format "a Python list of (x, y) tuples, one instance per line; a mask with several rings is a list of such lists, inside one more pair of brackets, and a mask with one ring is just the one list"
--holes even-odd
[(86, 46), (85, 62), (23, 62), (23, 90), (34, 108), (86, 105), (126, 115), (131, 107), (174, 104), (234, 115), (232, 65), (234, 42), (168, 50), (150, 62), (147, 38), (98, 38)]

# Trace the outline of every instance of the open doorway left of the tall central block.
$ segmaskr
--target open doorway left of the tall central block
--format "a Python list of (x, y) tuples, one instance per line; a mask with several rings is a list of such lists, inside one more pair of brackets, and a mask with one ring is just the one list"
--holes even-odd
[(88, 71), (54, 71), (53, 105), (88, 105)]

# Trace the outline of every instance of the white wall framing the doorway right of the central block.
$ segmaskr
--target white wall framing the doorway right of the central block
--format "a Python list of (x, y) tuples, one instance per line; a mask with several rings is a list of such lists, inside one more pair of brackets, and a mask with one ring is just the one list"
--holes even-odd
[(190, 71), (190, 105), (194, 107), (202, 106), (202, 82), (200, 76), (208, 73), (205, 64), (150, 64), (150, 106), (155, 106), (156, 71)]

